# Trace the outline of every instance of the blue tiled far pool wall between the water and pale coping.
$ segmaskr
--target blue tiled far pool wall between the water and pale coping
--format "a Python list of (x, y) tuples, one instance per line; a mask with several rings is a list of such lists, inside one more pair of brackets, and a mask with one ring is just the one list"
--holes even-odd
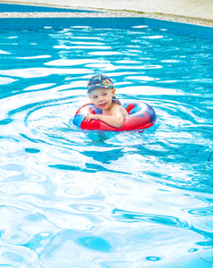
[(128, 29), (148, 25), (152, 29), (167, 29), (178, 35), (213, 41), (213, 28), (175, 21), (161, 21), (144, 17), (125, 18), (0, 18), (0, 29), (42, 29), (44, 27), (88, 26), (97, 29)]

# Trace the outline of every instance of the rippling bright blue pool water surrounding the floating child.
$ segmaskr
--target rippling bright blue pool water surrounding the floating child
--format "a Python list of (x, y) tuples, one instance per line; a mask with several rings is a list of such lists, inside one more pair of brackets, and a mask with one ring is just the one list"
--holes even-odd
[[(213, 46), (166, 29), (1, 31), (0, 266), (213, 267)], [(103, 72), (158, 121), (72, 124)]]

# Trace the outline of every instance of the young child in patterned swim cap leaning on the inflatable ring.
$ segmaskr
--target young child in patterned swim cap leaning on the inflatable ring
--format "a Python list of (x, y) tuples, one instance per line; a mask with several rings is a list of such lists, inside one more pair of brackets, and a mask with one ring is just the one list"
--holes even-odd
[(104, 74), (92, 76), (88, 82), (88, 94), (91, 104), (96, 105), (103, 113), (89, 113), (84, 117), (84, 120), (100, 120), (112, 127), (121, 128), (124, 123), (124, 117), (129, 114), (115, 98), (115, 88), (112, 80)]

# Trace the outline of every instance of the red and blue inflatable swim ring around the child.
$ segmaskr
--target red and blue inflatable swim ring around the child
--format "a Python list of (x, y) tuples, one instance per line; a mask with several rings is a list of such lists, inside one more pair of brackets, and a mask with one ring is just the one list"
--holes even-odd
[(125, 103), (122, 104), (129, 116), (124, 118), (124, 124), (121, 128), (109, 126), (100, 120), (83, 120), (88, 113), (101, 114), (102, 110), (95, 105), (84, 105), (74, 115), (73, 123), (82, 130), (107, 130), (107, 131), (128, 131), (144, 130), (151, 127), (157, 120), (154, 109), (145, 103)]

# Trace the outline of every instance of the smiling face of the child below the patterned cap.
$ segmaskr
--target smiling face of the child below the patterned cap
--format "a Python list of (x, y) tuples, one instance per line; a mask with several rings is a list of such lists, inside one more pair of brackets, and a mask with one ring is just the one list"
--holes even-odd
[(101, 110), (106, 110), (112, 105), (113, 96), (115, 88), (96, 88), (89, 92), (89, 98)]

